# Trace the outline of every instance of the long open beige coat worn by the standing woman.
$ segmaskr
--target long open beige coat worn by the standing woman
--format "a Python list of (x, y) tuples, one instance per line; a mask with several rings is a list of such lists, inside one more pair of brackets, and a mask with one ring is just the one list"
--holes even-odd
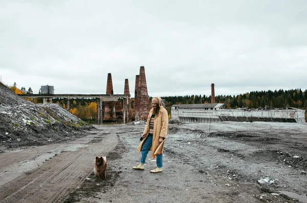
[[(151, 151), (151, 159), (155, 159), (156, 155), (162, 154), (163, 153), (163, 147), (164, 147), (164, 142), (167, 134), (167, 127), (168, 127), (168, 114), (167, 110), (163, 108), (161, 105), (161, 98), (159, 98), (159, 105), (160, 105), (160, 110), (159, 110), (159, 116), (155, 118), (155, 122), (153, 124), (153, 135), (152, 135), (152, 146), (150, 148)], [(142, 145), (144, 141), (146, 140), (149, 132), (149, 121), (152, 116), (153, 108), (150, 109), (146, 126), (144, 129), (144, 134), (146, 134), (146, 137), (142, 140), (142, 142), (139, 144), (137, 150), (138, 152), (141, 152), (142, 150)], [(164, 138), (163, 141), (159, 144), (159, 138), (162, 137)]]

